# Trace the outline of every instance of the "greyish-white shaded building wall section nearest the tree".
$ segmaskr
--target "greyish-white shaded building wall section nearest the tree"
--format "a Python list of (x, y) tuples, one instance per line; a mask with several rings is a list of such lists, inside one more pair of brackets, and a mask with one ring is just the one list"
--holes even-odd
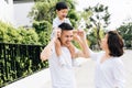
[(32, 7), (34, 6), (33, 1), (22, 2), (18, 1), (14, 2), (14, 20), (16, 26), (30, 26), (32, 25), (32, 21), (28, 18), (29, 12), (31, 11)]

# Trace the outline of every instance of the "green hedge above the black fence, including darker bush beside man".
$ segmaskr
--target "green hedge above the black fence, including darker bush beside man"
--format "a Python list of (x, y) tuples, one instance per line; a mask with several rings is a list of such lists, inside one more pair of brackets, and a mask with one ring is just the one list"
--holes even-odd
[(50, 41), (52, 24), (34, 21), (33, 29), (14, 28), (0, 21), (0, 42), (16, 44), (46, 45)]

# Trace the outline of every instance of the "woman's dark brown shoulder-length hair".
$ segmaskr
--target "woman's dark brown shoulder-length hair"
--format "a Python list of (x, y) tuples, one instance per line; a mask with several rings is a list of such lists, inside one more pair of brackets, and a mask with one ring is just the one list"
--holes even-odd
[(107, 34), (110, 56), (119, 57), (123, 55), (123, 40), (119, 33), (117, 31), (109, 31)]

